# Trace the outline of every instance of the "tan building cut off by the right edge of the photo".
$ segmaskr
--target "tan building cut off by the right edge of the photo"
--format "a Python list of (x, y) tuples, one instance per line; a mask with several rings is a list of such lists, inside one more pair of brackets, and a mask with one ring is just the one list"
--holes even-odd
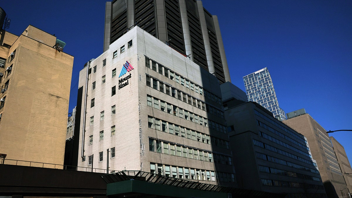
[(341, 196), (351, 196), (352, 192), (352, 169), (350, 165), (350, 161), (347, 158), (347, 154), (345, 148), (333, 137), (329, 137), (331, 143), (333, 145), (335, 155), (337, 157), (337, 161), (339, 162), (339, 166), (342, 172), (342, 176), (344, 176), (347, 189), (340, 189)]

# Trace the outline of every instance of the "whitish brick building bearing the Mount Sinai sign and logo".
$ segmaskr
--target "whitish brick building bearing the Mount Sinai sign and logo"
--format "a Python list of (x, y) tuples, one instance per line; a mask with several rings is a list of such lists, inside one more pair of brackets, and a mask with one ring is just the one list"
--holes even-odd
[(78, 166), (235, 186), (220, 85), (188, 57), (136, 26), (78, 87)]

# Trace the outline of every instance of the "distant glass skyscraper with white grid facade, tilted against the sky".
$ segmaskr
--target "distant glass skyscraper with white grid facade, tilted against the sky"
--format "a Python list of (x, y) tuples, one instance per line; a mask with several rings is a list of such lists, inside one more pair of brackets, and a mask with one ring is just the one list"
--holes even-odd
[(280, 121), (286, 119), (285, 112), (279, 107), (268, 68), (243, 77), (248, 101), (256, 102), (274, 114)]

